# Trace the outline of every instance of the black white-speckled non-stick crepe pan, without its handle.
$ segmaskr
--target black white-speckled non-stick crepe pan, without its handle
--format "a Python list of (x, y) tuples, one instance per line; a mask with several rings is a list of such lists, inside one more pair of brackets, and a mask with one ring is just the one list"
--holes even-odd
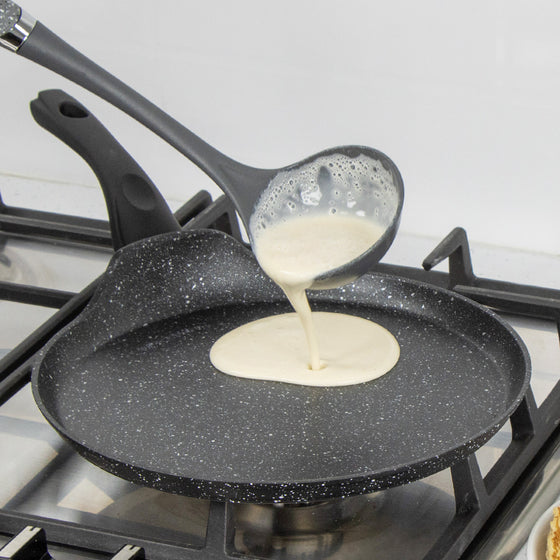
[(285, 298), (225, 234), (134, 243), (44, 349), (35, 398), (86, 458), (123, 478), (216, 500), (303, 502), (445, 468), (487, 441), (525, 394), (519, 337), (466, 298), (369, 274), (311, 300), (388, 328), (401, 346), (395, 368), (335, 388), (220, 373), (212, 343), (288, 311)]

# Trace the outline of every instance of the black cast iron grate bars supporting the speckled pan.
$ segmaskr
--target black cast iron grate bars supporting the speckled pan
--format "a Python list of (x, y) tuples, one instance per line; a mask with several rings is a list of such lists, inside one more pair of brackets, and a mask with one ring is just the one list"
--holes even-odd
[[(185, 228), (214, 227), (241, 238), (235, 212), (224, 197), (212, 202), (207, 193), (199, 193), (177, 213)], [(0, 230), (11, 236), (50, 239), (99, 247), (111, 245), (107, 223), (97, 220), (61, 216), (1, 203)], [(449, 259), (449, 273), (431, 270)], [(479, 303), (506, 313), (552, 320), (560, 329), (560, 290), (512, 284), (478, 278), (474, 275), (467, 236), (457, 228), (426, 258), (424, 270), (380, 264), (378, 270), (405, 278), (449, 288)], [(0, 405), (30, 381), (35, 354), (56, 333), (72, 321), (89, 301), (96, 281), (78, 294), (51, 289), (0, 283), (4, 300), (58, 308), (39, 329), (0, 360)], [(442, 536), (424, 560), (472, 558), (473, 543), (488, 531), (492, 516), (504, 507), (511, 496), (523, 487), (535, 458), (555, 446), (555, 429), (560, 410), (560, 384), (537, 407), (529, 388), (510, 418), (512, 440), (492, 469), (482, 476), (474, 454), (451, 468), (456, 513)], [(553, 443), (551, 443), (553, 442)], [(0, 510), (0, 533), (11, 540), (0, 550), (0, 559), (36, 560), (51, 558), (48, 547), (62, 547), (65, 557), (80, 557), (80, 551), (95, 551), (115, 560), (140, 558), (226, 559), (249, 558), (232, 550), (232, 504), (210, 504), (207, 536), (202, 548), (184, 547), (158, 538), (134, 538), (129, 542), (118, 532), (81, 524), (53, 520), (10, 510)], [(490, 521), (489, 521), (490, 520)], [(470, 547), (470, 548), (469, 548)], [(467, 552), (466, 552), (467, 551)], [(112, 556), (111, 556), (112, 555)], [(55, 556), (56, 557), (56, 556)]]

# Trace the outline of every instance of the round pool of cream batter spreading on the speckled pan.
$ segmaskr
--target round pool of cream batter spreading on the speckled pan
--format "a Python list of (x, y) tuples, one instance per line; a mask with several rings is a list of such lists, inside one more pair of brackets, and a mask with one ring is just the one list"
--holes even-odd
[(215, 367), (251, 379), (338, 386), (371, 381), (399, 359), (399, 345), (382, 326), (342, 313), (313, 313), (323, 367), (308, 367), (308, 348), (296, 313), (242, 325), (212, 347)]

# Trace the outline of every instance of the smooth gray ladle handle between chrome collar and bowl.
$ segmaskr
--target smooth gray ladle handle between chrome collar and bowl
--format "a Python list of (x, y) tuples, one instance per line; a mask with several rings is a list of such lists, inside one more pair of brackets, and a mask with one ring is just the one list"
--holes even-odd
[[(105, 99), (155, 132), (209, 175), (244, 213), (245, 196), (230, 189), (231, 177), (252, 168), (222, 154), (159, 107), (82, 55), (37, 21), (17, 53)], [(241, 200), (240, 200), (241, 198)], [(252, 206), (252, 204), (251, 204)], [(251, 208), (248, 209), (250, 213)], [(244, 216), (242, 216), (244, 217)]]

